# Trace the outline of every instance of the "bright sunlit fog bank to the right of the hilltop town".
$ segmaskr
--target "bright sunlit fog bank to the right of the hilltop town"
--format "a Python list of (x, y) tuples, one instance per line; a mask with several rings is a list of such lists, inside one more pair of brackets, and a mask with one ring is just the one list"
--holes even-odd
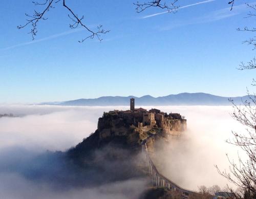
[[(160, 107), (159, 107), (160, 108)], [(165, 112), (178, 112), (187, 119), (187, 131), (170, 144), (158, 143), (156, 157), (159, 170), (180, 186), (197, 190), (199, 186), (229, 182), (215, 168), (228, 170), (228, 160), (237, 159), (238, 147), (226, 143), (232, 139), (231, 130), (244, 131), (244, 126), (231, 118), (232, 107), (183, 106), (161, 107)], [(240, 154), (243, 151), (239, 150)], [(233, 187), (232, 184), (229, 186)]]

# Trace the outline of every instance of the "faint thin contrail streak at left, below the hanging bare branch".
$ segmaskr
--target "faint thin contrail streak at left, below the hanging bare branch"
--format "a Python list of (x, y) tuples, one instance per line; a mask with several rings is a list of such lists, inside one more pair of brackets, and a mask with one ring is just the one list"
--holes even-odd
[(54, 34), (54, 35), (44, 37), (44, 38), (41, 38), (41, 39), (36, 39), (36, 40), (24, 42), (24, 43), (19, 43), (17, 45), (9, 46), (9, 47), (6, 47), (6, 48), (0, 49), (0, 50), (4, 51), (4, 50), (9, 50), (9, 49), (14, 49), (16, 47), (27, 46), (27, 45), (31, 45), (33, 43), (38, 43), (38, 42), (41, 42), (41, 41), (46, 41), (46, 40), (54, 39), (54, 38), (57, 38), (57, 37), (69, 35), (69, 34), (72, 34), (72, 33), (75, 33), (75, 32), (80, 32), (82, 30), (83, 30), (82, 28), (79, 28), (79, 29), (74, 29), (74, 30), (70, 30), (70, 31), (65, 31), (65, 32)]

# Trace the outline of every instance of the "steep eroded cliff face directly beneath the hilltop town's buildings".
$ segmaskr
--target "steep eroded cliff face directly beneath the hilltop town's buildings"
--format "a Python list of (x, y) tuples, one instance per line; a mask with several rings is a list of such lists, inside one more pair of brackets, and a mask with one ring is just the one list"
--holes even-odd
[(140, 148), (142, 141), (147, 139), (149, 150), (153, 152), (156, 139), (176, 138), (186, 130), (184, 119), (163, 118), (159, 126), (140, 124), (142, 123), (139, 117), (134, 117), (132, 114), (104, 114), (98, 121), (99, 142), (123, 137), (126, 144)]

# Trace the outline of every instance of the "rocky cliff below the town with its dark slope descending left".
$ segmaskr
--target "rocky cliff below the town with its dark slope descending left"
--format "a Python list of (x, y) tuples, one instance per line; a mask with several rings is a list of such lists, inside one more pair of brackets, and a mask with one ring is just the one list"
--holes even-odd
[(98, 120), (98, 129), (94, 134), (71, 149), (69, 153), (76, 157), (84, 156), (88, 151), (102, 148), (106, 145), (139, 152), (145, 139), (147, 139), (149, 150), (154, 151), (154, 143), (157, 139), (168, 140), (179, 137), (182, 131), (186, 130), (186, 120), (182, 119), (179, 114), (170, 116), (166, 113), (150, 113), (153, 116), (155, 114), (156, 121), (150, 122), (154, 125), (146, 125), (147, 121), (144, 121), (145, 114), (148, 113), (132, 113), (118, 110), (104, 113)]

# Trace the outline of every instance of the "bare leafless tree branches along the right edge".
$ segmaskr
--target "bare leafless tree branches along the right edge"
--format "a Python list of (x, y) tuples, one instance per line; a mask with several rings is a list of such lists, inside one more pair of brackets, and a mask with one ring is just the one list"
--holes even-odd
[[(247, 17), (256, 16), (256, 5), (247, 4), (250, 9)], [(248, 28), (245, 26), (243, 29), (238, 28), (238, 31), (246, 31), (254, 33), (256, 28)], [(253, 49), (256, 48), (255, 36), (249, 38), (243, 43), (252, 45)], [(241, 62), (239, 70), (253, 70), (256, 69), (256, 59), (252, 58), (247, 63)], [(255, 85), (255, 79), (252, 80), (252, 85)], [(234, 192), (231, 188), (230, 191), (234, 194), (235, 198), (256, 198), (256, 96), (250, 95), (247, 91), (248, 100), (242, 101), (238, 105), (230, 99), (233, 105), (232, 117), (245, 126), (245, 132), (232, 131), (233, 138), (227, 140), (228, 143), (240, 147), (246, 154), (246, 160), (238, 156), (238, 162), (230, 160), (229, 171), (220, 171), (219, 173), (228, 179), (231, 183), (238, 187), (238, 192)]]

